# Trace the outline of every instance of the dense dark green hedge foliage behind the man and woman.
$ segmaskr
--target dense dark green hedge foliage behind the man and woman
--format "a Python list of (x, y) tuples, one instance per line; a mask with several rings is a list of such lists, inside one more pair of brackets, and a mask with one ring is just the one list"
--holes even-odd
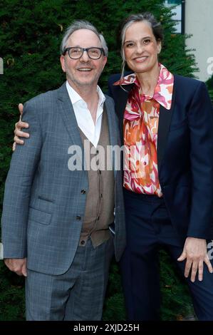
[[(0, 56), (4, 75), (0, 75), (0, 207), (4, 180), (9, 169), (14, 123), (19, 118), (18, 103), (38, 93), (58, 88), (65, 77), (59, 62), (61, 38), (74, 19), (91, 21), (104, 34), (110, 50), (108, 66), (100, 80), (107, 88), (108, 76), (120, 71), (120, 51), (116, 31), (128, 14), (151, 11), (165, 27), (161, 61), (173, 73), (193, 76), (192, 51), (185, 50), (186, 36), (176, 35), (170, 9), (163, 0), (0, 0)], [(19, 177), (19, 176), (17, 176)], [(0, 210), (1, 215), (1, 210)], [(162, 262), (163, 319), (176, 319), (186, 313), (185, 287), (175, 278), (170, 262)], [(165, 287), (172, 281), (172, 289)], [(110, 272), (104, 319), (125, 319), (118, 266)], [(0, 264), (0, 320), (24, 318), (23, 281)]]

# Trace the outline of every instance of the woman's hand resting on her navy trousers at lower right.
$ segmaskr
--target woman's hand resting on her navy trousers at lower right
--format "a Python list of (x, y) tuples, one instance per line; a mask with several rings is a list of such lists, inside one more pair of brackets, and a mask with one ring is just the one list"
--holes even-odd
[(185, 277), (189, 277), (190, 269), (191, 272), (191, 282), (195, 281), (195, 277), (198, 271), (198, 279), (201, 282), (203, 278), (203, 263), (207, 264), (209, 272), (213, 272), (212, 264), (209, 261), (207, 255), (207, 242), (205, 239), (197, 239), (194, 237), (187, 237), (185, 241), (185, 246), (183, 248), (182, 254), (177, 259), (182, 262), (187, 259), (185, 265)]

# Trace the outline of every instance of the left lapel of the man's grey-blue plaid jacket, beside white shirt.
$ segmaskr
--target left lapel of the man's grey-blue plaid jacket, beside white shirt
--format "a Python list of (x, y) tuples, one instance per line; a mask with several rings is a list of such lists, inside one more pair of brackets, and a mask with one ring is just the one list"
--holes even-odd
[(60, 88), (58, 88), (58, 100), (60, 101), (60, 110), (61, 110), (61, 115), (63, 118), (64, 125), (71, 138), (71, 144), (76, 145), (77, 147), (81, 149), (82, 155), (78, 155), (78, 150), (76, 150), (76, 153), (78, 157), (80, 158), (80, 162), (82, 163), (83, 168), (84, 168), (83, 143), (80, 138), (80, 132), (78, 130), (78, 123), (77, 123), (76, 116), (73, 110), (73, 105), (71, 103), (71, 99), (66, 89), (66, 83), (63, 83), (63, 85)]

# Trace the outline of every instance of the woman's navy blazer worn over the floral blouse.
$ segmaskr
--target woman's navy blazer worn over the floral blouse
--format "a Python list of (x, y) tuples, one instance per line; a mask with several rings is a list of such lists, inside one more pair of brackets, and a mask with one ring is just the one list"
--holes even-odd
[[(113, 86), (123, 138), (123, 113), (134, 84)], [(160, 105), (157, 132), (157, 165), (160, 186), (172, 224), (182, 242), (187, 236), (212, 239), (213, 118), (212, 103), (204, 83), (175, 76), (172, 108)]]

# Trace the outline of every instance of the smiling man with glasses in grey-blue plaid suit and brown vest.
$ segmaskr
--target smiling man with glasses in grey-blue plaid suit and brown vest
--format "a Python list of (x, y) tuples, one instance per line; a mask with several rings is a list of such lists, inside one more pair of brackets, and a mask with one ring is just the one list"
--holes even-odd
[(98, 146), (120, 145), (113, 100), (97, 86), (107, 55), (95, 27), (75, 21), (61, 43), (66, 83), (24, 106), (31, 135), (11, 159), (2, 242), (6, 266), (26, 277), (27, 320), (101, 319), (113, 239), (117, 260), (125, 248), (121, 172), (113, 155), (112, 169), (90, 169), (105, 160)]

